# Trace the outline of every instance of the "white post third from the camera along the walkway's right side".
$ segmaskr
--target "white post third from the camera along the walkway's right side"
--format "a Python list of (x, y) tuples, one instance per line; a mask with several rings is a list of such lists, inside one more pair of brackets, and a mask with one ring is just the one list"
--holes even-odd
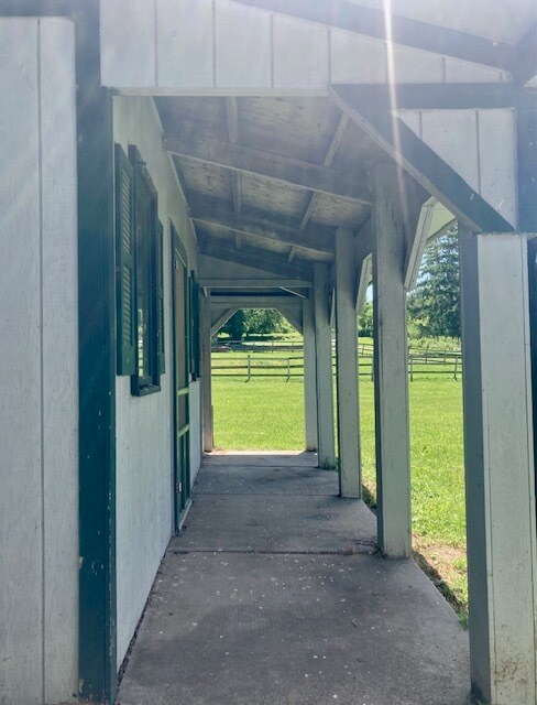
[(358, 413), (358, 325), (354, 236), (336, 232), (336, 360), (338, 390), (339, 494), (362, 496)]

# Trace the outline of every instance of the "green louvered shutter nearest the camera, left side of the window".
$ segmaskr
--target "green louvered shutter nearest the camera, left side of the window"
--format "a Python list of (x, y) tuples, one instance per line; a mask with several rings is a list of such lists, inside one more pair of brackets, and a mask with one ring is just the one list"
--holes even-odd
[(116, 144), (116, 300), (118, 375), (135, 372), (134, 170)]

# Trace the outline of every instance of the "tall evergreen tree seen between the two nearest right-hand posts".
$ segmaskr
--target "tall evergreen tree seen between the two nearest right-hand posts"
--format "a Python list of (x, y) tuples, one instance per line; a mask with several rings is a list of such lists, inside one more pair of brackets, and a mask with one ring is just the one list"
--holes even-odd
[(425, 250), (408, 313), (424, 336), (460, 337), (459, 242), (457, 229)]

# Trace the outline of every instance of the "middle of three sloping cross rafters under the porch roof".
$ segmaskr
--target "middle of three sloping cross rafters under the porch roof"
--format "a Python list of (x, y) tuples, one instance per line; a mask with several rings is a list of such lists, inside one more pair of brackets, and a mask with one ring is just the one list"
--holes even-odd
[[(237, 217), (232, 214), (229, 214), (227, 217), (220, 216), (218, 218), (202, 215), (191, 215), (190, 217), (200, 226), (216, 227), (220, 230), (231, 232), (233, 236), (238, 235), (241, 238), (242, 236), (254, 238), (260, 242), (260, 246), (276, 242), (280, 245), (289, 245), (291, 247), (309, 250), (316, 253), (333, 256), (333, 246), (327, 242), (326, 239), (315, 236), (305, 237), (304, 232), (300, 231), (282, 232), (280, 229), (274, 227), (250, 224), (248, 219)], [(237, 249), (239, 250), (241, 248), (237, 247)]]

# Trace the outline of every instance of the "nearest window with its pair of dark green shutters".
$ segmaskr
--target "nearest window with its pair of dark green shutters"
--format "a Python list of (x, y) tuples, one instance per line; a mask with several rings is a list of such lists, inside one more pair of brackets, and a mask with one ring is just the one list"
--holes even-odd
[(140, 152), (116, 145), (118, 375), (136, 397), (158, 391), (164, 370), (163, 228)]

